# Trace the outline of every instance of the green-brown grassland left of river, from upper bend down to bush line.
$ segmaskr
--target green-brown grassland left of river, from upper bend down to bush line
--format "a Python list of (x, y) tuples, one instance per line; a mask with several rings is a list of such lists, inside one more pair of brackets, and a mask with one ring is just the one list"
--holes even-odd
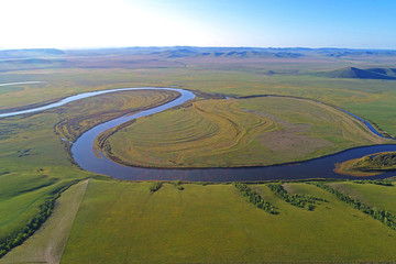
[[(69, 144), (61, 138), (75, 138), (65, 135), (64, 132), (68, 130), (61, 131), (56, 124), (70, 124), (67, 128), (73, 128), (74, 135), (78, 135), (79, 130), (86, 130), (100, 121), (122, 116), (127, 111), (164, 103), (175, 96), (174, 92), (119, 92), (40, 113), (1, 119), (0, 239), (24, 227), (38, 212), (38, 206), (62, 186), (75, 179), (100, 177), (72, 163), (67, 153)], [(109, 101), (112, 103), (106, 103)], [(76, 112), (81, 116), (78, 117)], [(87, 117), (84, 114), (89, 114), (89, 122), (84, 119)], [(99, 117), (92, 118), (96, 114)], [(76, 123), (76, 119), (86, 123)], [(80, 125), (79, 130), (75, 129), (76, 124)]]

